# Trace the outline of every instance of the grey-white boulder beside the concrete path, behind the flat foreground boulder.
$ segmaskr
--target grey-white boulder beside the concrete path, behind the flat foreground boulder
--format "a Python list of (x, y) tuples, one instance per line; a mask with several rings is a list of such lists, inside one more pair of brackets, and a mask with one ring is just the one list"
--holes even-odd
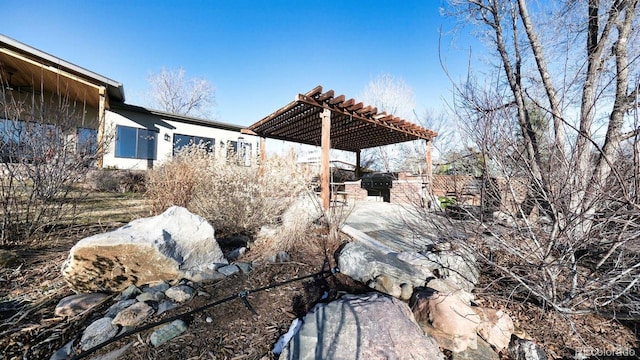
[(427, 267), (402, 261), (397, 253), (383, 253), (360, 242), (346, 244), (338, 257), (340, 272), (391, 296), (409, 300), (413, 288), (424, 286), (433, 274)]

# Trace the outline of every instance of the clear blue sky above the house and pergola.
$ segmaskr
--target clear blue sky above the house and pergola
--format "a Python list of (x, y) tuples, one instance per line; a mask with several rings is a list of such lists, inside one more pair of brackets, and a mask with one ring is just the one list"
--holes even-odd
[(183, 67), (216, 87), (220, 121), (250, 125), (316, 85), (357, 97), (380, 74), (403, 79), (417, 111), (440, 111), (475, 43), (450, 31), (440, 0), (0, 0), (2, 33), (124, 84), (145, 105), (147, 77)]

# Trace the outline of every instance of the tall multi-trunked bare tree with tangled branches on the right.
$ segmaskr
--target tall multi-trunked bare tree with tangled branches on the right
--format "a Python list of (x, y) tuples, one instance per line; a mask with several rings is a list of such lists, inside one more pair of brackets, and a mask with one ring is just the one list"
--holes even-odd
[(478, 253), (558, 311), (639, 311), (638, 0), (451, 4), (496, 60), (456, 86), (514, 230)]

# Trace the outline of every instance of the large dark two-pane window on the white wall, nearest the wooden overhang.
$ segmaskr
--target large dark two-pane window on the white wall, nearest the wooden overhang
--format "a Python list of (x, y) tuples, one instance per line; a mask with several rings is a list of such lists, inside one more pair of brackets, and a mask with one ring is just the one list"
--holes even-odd
[(154, 130), (116, 126), (116, 157), (155, 160), (157, 143)]

